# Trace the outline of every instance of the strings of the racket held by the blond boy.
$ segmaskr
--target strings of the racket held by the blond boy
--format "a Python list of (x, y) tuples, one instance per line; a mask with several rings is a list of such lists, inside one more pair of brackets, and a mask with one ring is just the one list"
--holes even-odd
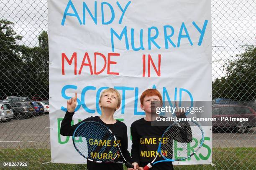
[[(112, 144), (109, 145), (108, 140), (111, 143), (115, 140), (114, 135), (110, 133), (108, 128), (97, 122), (85, 122), (81, 124), (74, 137), (82, 137), (82, 141), (75, 142), (74, 145), (77, 151), (85, 158), (93, 161), (110, 161), (113, 160), (113, 156), (117, 157), (118, 149)], [(97, 140), (97, 141), (96, 141)], [(100, 143), (101, 141), (101, 143)], [(108, 151), (111, 155), (106, 155)]]

